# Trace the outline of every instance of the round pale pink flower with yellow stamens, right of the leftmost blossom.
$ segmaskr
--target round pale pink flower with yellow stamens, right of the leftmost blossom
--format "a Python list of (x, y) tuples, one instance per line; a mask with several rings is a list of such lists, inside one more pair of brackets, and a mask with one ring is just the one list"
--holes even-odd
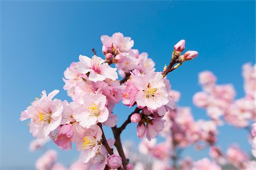
[(108, 120), (109, 111), (105, 105), (106, 96), (102, 94), (85, 95), (82, 104), (78, 104), (78, 109), (73, 117), (82, 127), (90, 128), (98, 122), (103, 123)]

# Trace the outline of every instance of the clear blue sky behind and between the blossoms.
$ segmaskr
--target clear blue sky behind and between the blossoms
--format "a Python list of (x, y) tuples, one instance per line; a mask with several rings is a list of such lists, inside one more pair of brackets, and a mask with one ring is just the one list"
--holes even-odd
[[(134, 48), (154, 59), (156, 70), (170, 60), (174, 44), (185, 39), (187, 50), (199, 56), (184, 63), (168, 76), (174, 90), (182, 92), (180, 105), (192, 105), (200, 91), (197, 74), (211, 70), (218, 83), (233, 83), (237, 97), (243, 96), (241, 66), (255, 62), (255, 1), (2, 1), (1, 2), (1, 167), (34, 167), (42, 152), (31, 153), (32, 135), (20, 112), (42, 90), (59, 89), (59, 99), (69, 100), (63, 90), (63, 71), (79, 54), (101, 53), (101, 35), (122, 32), (135, 42)], [(131, 112), (114, 110), (119, 124)], [(207, 118), (192, 107), (196, 119)], [(250, 146), (245, 130), (220, 128), (219, 144), (225, 149), (237, 142), (247, 152)], [(110, 131), (106, 133), (112, 137)], [(122, 139), (139, 142), (135, 125), (129, 125)], [(50, 144), (49, 148), (57, 148)], [(57, 149), (58, 150), (58, 149)], [(189, 148), (193, 159), (207, 155)], [(71, 164), (75, 150), (59, 151), (60, 162)]]

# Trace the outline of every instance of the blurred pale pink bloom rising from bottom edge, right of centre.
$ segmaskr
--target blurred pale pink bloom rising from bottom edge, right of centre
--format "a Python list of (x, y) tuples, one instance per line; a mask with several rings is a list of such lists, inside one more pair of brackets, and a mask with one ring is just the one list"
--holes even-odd
[(204, 158), (194, 163), (192, 170), (221, 170), (217, 164), (210, 162), (209, 159)]

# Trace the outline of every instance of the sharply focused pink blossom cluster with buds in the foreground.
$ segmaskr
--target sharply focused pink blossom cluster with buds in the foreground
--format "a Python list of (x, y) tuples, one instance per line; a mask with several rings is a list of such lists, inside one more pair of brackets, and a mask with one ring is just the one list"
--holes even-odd
[[(42, 140), (31, 145), (31, 150), (51, 138), (61, 150), (71, 150), (75, 143), (81, 152), (81, 162), (90, 169), (120, 168), (122, 165), (129, 169), (131, 164), (124, 163), (120, 153), (113, 154), (115, 140), (106, 140), (102, 125), (116, 128), (117, 115), (113, 114), (113, 108), (122, 101), (129, 107), (137, 105), (137, 113), (132, 119), (138, 123), (138, 137), (148, 140), (157, 137), (164, 128), (164, 114), (175, 107), (170, 94), (171, 84), (166, 74), (155, 71), (155, 63), (147, 53), (132, 49), (134, 41), (130, 37), (117, 32), (111, 37), (101, 36), (101, 41), (105, 59), (96, 56), (96, 52), (92, 57), (80, 55), (79, 61), (71, 63), (64, 71), (64, 90), (72, 102), (53, 99), (59, 90), (48, 95), (43, 91), (41, 97), (36, 97), (22, 112), (20, 120), (30, 119), (30, 133)], [(184, 40), (174, 46), (174, 52), (180, 56), (175, 62), (197, 56), (197, 52), (181, 56), (184, 48)], [(118, 74), (124, 79), (118, 80)], [(44, 156), (40, 160), (47, 161)]]

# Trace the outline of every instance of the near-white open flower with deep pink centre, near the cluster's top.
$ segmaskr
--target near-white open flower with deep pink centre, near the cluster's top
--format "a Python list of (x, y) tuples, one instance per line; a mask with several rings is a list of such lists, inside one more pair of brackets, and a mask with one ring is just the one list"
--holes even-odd
[(89, 73), (88, 79), (93, 82), (102, 81), (106, 78), (112, 80), (118, 78), (117, 69), (110, 67), (108, 63), (105, 63), (105, 60), (100, 57), (93, 56), (89, 58), (80, 55), (79, 60), (80, 61), (77, 63), (78, 70), (82, 74)]

